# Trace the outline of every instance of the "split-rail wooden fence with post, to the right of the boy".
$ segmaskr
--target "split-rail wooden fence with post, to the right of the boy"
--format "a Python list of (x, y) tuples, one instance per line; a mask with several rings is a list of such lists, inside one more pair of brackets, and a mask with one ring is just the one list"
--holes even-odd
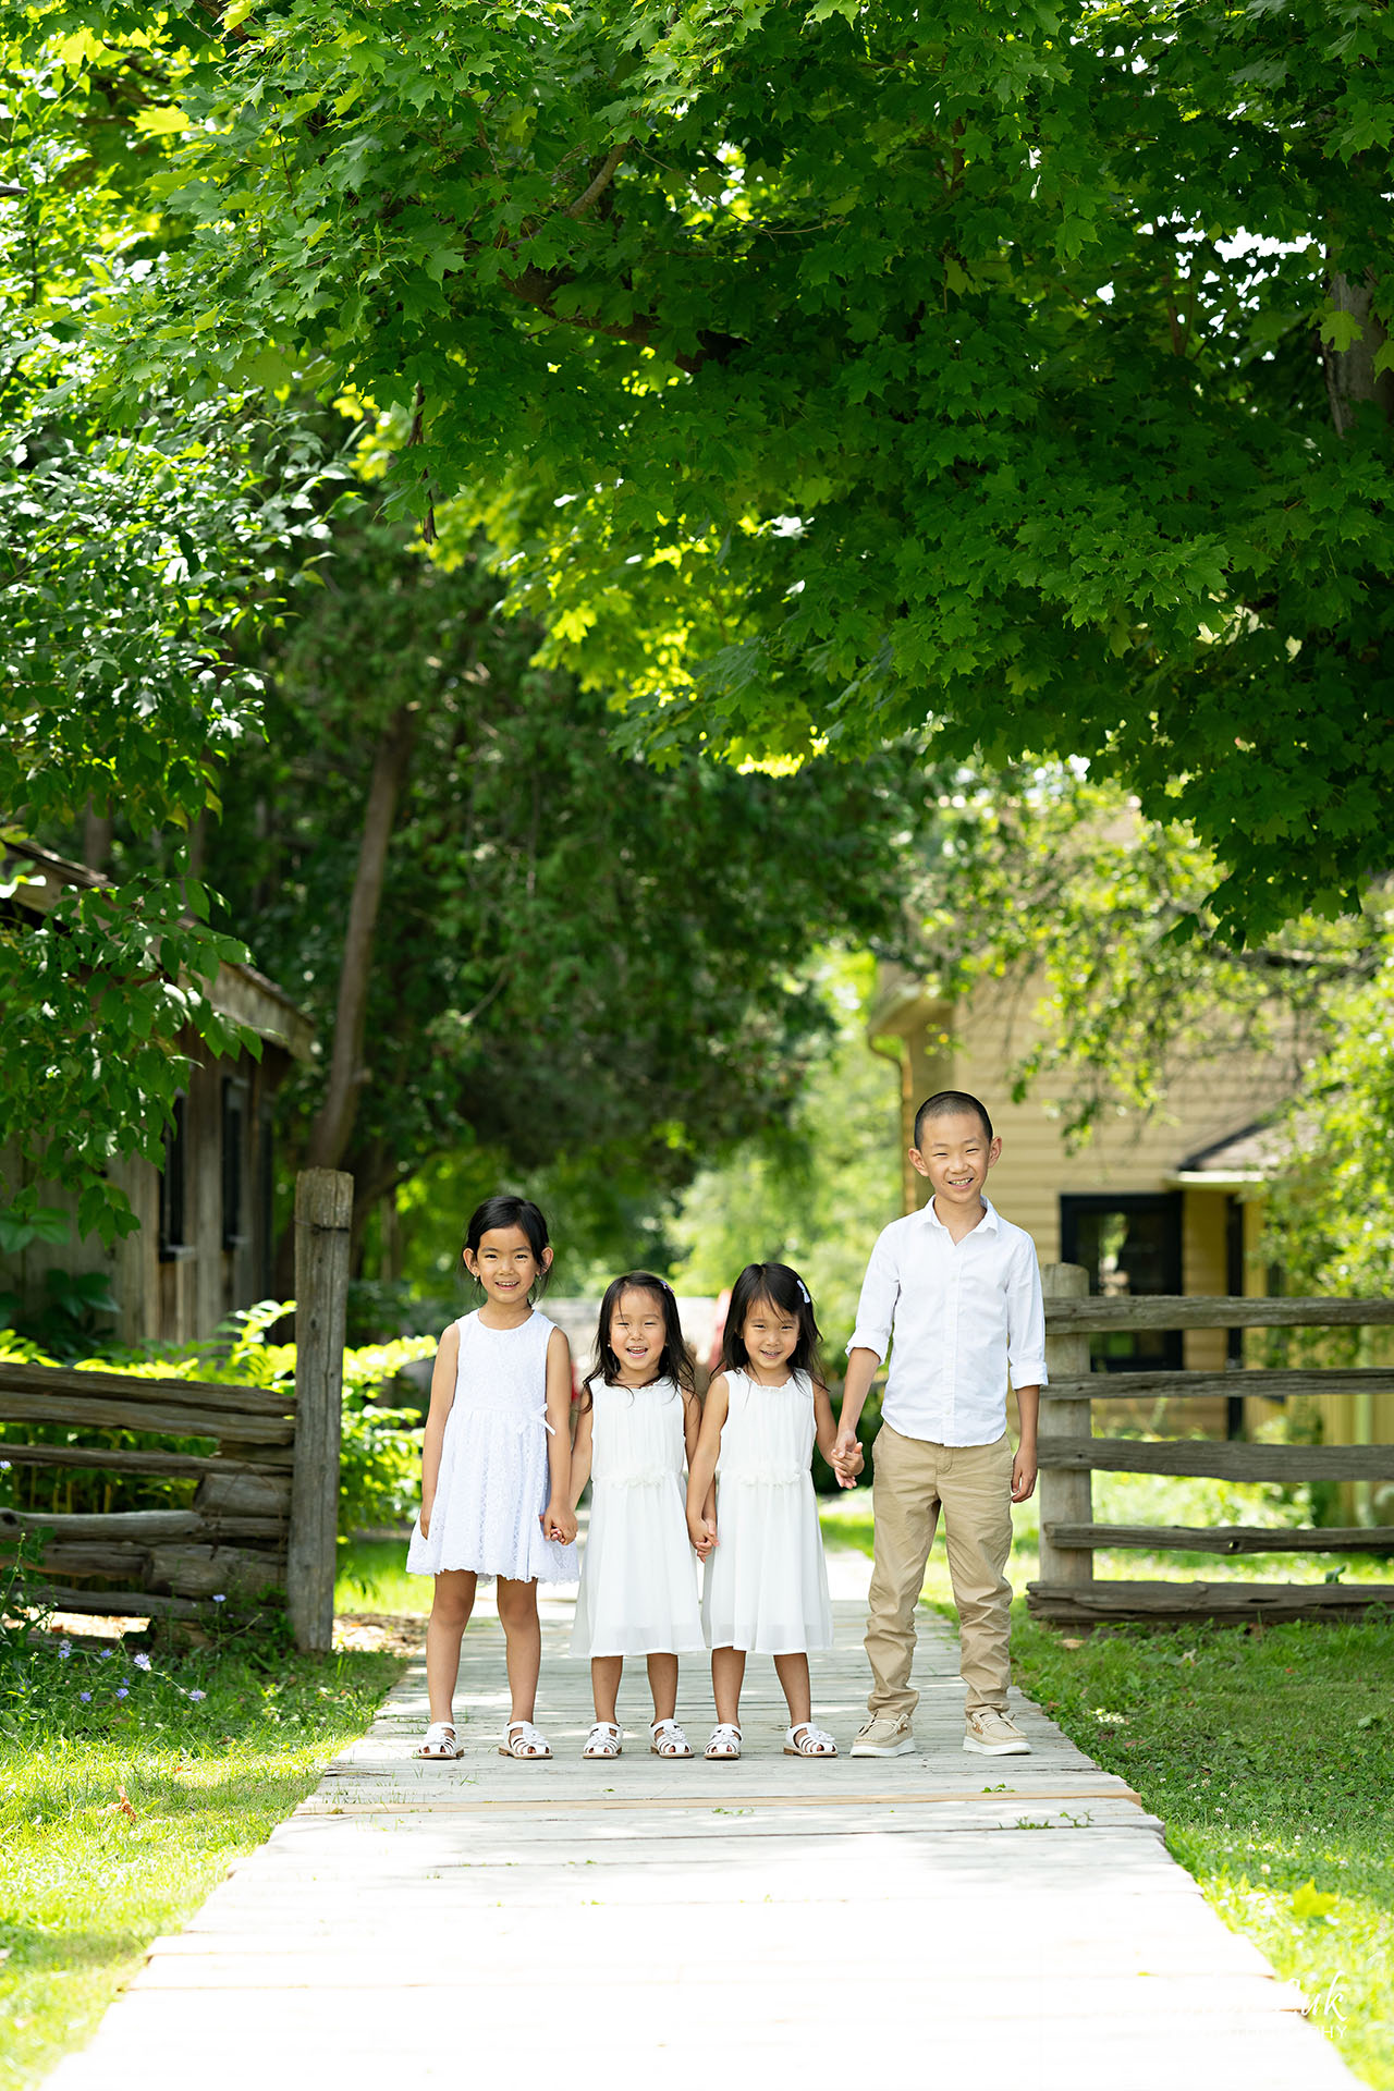
[(1089, 1278), (1074, 1263), (1051, 1263), (1045, 1284), (1045, 1359), (1041, 1395), (1041, 1579), (1026, 1602), (1041, 1618), (1093, 1625), (1112, 1618), (1350, 1618), (1373, 1604), (1394, 1606), (1394, 1583), (1131, 1583), (1095, 1579), (1095, 1552), (1145, 1549), (1198, 1554), (1394, 1554), (1394, 1524), (1269, 1529), (1252, 1524), (1097, 1524), (1095, 1472), (1200, 1474), (1218, 1480), (1394, 1480), (1394, 1445), (1241, 1445), (1206, 1439), (1093, 1437), (1093, 1405), (1118, 1397), (1195, 1399), (1333, 1393), (1394, 1393), (1394, 1372), (1235, 1370), (1120, 1372), (1089, 1370), (1089, 1336), (1110, 1330), (1187, 1328), (1369, 1328), (1394, 1324), (1394, 1299), (1089, 1299)]

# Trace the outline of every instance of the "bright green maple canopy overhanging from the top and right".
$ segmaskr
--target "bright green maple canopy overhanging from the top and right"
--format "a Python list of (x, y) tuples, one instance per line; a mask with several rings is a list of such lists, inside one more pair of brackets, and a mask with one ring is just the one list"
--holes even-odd
[[(153, 48), (125, 4), (42, 19)], [(1386, 8), (234, 0), (163, 36), (178, 238), (113, 303), (127, 387), (387, 410), (399, 498), (489, 521), (637, 744), (1085, 755), (1214, 847), (1233, 935), (1386, 864)]]

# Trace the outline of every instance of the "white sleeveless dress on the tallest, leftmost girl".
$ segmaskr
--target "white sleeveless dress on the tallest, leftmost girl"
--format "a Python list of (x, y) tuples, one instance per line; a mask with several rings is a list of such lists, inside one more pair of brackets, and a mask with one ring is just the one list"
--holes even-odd
[(548, 1466), (545, 1313), (518, 1328), (487, 1328), (466, 1313), (456, 1401), (445, 1418), (431, 1535), (420, 1518), (408, 1575), (472, 1568), (514, 1583), (575, 1583), (577, 1549), (543, 1539), (537, 1522), (552, 1495)]

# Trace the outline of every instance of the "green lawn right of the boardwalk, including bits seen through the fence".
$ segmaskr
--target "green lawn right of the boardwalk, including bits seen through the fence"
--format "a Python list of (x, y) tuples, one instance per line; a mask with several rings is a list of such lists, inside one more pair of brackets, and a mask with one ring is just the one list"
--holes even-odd
[[(1122, 1489), (1118, 1483), (1145, 1483)], [(1204, 1499), (1198, 1491), (1210, 1491)], [(1099, 1518), (1212, 1522), (1214, 1483), (1095, 1474)], [(1277, 1522), (1271, 1491), (1231, 1489), (1225, 1516)], [(1143, 1508), (1145, 1506), (1145, 1508)], [(1035, 1506), (1018, 1514), (1012, 1581), (1037, 1572)], [(1281, 1506), (1279, 1506), (1281, 1508)], [(872, 1547), (869, 1497), (823, 1506), (832, 1543)], [(1210, 1556), (1099, 1558), (1099, 1575), (1319, 1583), (1388, 1581), (1386, 1562)], [(926, 1602), (953, 1612), (943, 1537)], [(1018, 1600), (1018, 1683), (1166, 1823), (1206, 1899), (1308, 1999), (1312, 2022), (1379, 2091), (1394, 2091), (1394, 1612), (1361, 1625), (1043, 1627)]]

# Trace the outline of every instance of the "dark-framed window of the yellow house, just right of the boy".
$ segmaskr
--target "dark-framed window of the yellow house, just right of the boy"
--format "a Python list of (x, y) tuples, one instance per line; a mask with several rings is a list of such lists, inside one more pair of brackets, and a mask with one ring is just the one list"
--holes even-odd
[[(1181, 1192), (1099, 1192), (1060, 1198), (1060, 1255), (1083, 1263), (1101, 1299), (1181, 1292)], [(1175, 1372), (1179, 1330), (1110, 1332), (1089, 1338), (1095, 1372)]]

